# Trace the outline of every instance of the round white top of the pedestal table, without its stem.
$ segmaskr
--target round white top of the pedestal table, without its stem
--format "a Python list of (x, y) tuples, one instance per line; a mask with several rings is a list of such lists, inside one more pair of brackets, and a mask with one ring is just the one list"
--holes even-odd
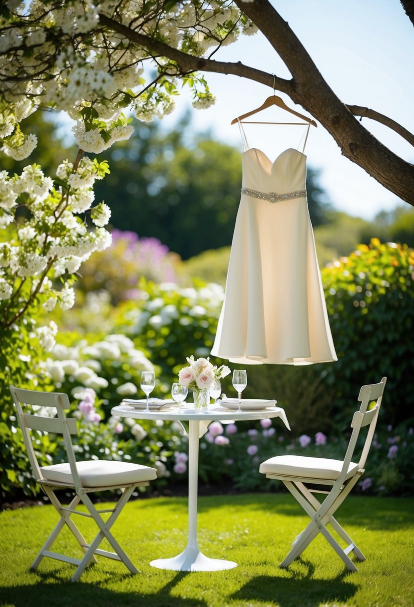
[(173, 421), (242, 421), (243, 419), (265, 419), (265, 418), (276, 418), (280, 417), (290, 430), (290, 426), (286, 417), (285, 410), (282, 407), (266, 407), (265, 409), (254, 409), (237, 411), (234, 409), (225, 409), (220, 405), (210, 405), (208, 409), (200, 410), (194, 409), (193, 403), (184, 402), (180, 409), (176, 405), (165, 407), (165, 409), (150, 410), (148, 413), (143, 408), (134, 407), (126, 403), (121, 403), (117, 407), (113, 407), (111, 410), (112, 415), (118, 415), (120, 417), (129, 417), (132, 419), (165, 419)]

